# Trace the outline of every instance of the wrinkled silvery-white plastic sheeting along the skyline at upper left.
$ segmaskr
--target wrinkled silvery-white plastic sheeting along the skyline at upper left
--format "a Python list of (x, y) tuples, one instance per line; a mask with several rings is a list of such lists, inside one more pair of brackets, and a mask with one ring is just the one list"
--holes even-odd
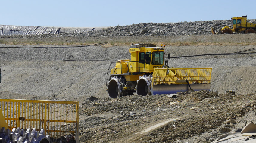
[(84, 33), (101, 30), (104, 27), (42, 27), (42, 26), (13, 26), (0, 25), (0, 35), (41, 35), (61, 33)]

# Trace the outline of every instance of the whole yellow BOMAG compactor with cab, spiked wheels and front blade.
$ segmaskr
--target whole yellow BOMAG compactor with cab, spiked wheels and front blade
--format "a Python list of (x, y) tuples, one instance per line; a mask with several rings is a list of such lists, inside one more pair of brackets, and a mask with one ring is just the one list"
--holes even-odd
[(169, 60), (164, 60), (164, 49), (163, 44), (161, 47), (131, 45), (131, 59), (118, 60), (109, 66), (106, 82), (109, 97), (133, 95), (134, 92), (156, 95), (189, 89), (210, 90), (212, 68), (170, 68), (170, 54)]

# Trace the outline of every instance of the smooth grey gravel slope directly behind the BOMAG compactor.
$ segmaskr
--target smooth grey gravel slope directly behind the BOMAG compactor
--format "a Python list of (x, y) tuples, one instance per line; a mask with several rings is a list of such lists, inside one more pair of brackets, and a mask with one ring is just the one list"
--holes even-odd
[[(2, 45), (4, 47), (5, 45)], [(172, 56), (227, 53), (254, 46), (168, 46)], [(64, 59), (130, 59), (129, 46), (85, 48), (0, 48), (0, 91), (52, 97), (106, 97), (106, 73), (112, 61)], [(238, 94), (256, 91), (255, 54), (172, 58), (171, 67), (212, 67), (211, 90)]]

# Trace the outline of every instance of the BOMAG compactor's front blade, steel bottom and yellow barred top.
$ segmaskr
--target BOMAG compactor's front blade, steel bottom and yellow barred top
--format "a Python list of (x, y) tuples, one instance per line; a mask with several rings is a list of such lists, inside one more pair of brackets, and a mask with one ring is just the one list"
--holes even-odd
[(210, 91), (211, 70), (212, 68), (155, 68), (151, 93), (170, 94), (189, 89)]

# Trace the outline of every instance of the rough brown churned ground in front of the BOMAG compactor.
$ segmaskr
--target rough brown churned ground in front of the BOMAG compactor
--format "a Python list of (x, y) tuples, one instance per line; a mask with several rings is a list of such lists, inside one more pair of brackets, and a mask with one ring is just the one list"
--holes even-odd
[[(188, 91), (177, 98), (133, 95), (88, 100), (80, 113), (80, 138), (85, 142), (208, 143), (244, 127), (250, 121), (244, 115), (255, 117), (254, 100), (255, 94), (207, 91)], [(230, 124), (231, 119), (235, 122)]]

